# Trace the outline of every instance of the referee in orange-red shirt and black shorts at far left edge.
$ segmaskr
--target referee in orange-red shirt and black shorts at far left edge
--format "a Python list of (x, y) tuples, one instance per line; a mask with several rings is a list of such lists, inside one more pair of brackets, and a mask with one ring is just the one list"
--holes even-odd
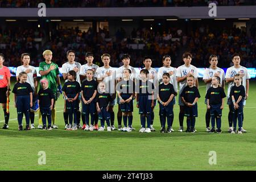
[(3, 129), (8, 129), (10, 113), (7, 113), (6, 111), (6, 103), (7, 103), (7, 97), (10, 96), (11, 73), (9, 68), (3, 65), (4, 61), (5, 61), (5, 56), (2, 53), (0, 53), (0, 103), (2, 104), (3, 113), (5, 114), (5, 124), (3, 125)]

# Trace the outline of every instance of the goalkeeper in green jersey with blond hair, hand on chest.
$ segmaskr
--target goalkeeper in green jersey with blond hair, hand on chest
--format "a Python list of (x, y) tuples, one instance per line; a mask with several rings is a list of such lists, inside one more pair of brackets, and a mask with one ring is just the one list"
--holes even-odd
[[(56, 110), (55, 110), (55, 102), (57, 101), (57, 89), (60, 93), (61, 91), (61, 84), (60, 84), (60, 77), (59, 77), (59, 67), (57, 64), (52, 62), (52, 51), (46, 50), (43, 52), (43, 56), (45, 61), (39, 64), (39, 74), (42, 78), (46, 78), (48, 80), (49, 89), (52, 90), (55, 99), (52, 108), (52, 124), (53, 129), (57, 129), (57, 125), (55, 124), (56, 120)], [(56, 86), (56, 83), (58, 86)], [(38, 128), (42, 129), (42, 115), (39, 113), (39, 126)]]

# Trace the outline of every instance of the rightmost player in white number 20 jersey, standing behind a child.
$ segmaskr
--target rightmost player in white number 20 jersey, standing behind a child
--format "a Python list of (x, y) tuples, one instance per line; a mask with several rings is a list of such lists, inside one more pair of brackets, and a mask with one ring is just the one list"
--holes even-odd
[[(228, 83), (228, 105), (229, 105), (229, 130), (228, 132), (231, 133), (233, 131), (232, 123), (233, 123), (233, 117), (232, 117), (232, 99), (230, 98), (230, 90), (232, 86), (234, 85), (234, 76), (237, 74), (240, 74), (242, 76), (242, 85), (245, 87), (245, 100), (247, 100), (249, 96), (249, 79), (250, 75), (248, 73), (247, 68), (242, 67), (240, 65), (240, 55), (237, 53), (234, 53), (232, 56), (232, 62), (234, 63), (233, 67), (230, 67), (226, 70), (226, 82)], [(245, 101), (243, 102), (243, 106), (245, 106)], [(242, 121), (243, 121), (243, 115), (242, 115)], [(247, 132), (243, 127), (241, 127), (242, 132)]]

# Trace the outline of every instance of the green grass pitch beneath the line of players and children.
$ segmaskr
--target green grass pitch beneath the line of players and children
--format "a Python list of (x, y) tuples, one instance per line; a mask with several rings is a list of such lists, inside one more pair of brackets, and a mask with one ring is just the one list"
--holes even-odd
[[(57, 125), (53, 131), (18, 131), (18, 121), (10, 96), (9, 130), (0, 129), (0, 170), (255, 170), (256, 169), (256, 84), (250, 82), (249, 99), (244, 109), (242, 135), (229, 134), (228, 107), (222, 111), (222, 134), (205, 131), (205, 84), (200, 82), (199, 117), (196, 133), (179, 133), (179, 107), (175, 105), (174, 133), (159, 133), (159, 106), (155, 107), (152, 133), (138, 133), (140, 120), (134, 110), (135, 131), (65, 131), (63, 99), (56, 102)], [(13, 85), (12, 85), (13, 88)], [(117, 106), (115, 108), (115, 117)], [(24, 123), (23, 119), (23, 123)], [(4, 123), (0, 111), (0, 125)], [(38, 125), (38, 116), (35, 117)], [(117, 118), (115, 118), (117, 126)], [(185, 126), (185, 119), (184, 119)], [(39, 151), (46, 152), (46, 164), (39, 165)], [(210, 165), (210, 151), (217, 164)]]

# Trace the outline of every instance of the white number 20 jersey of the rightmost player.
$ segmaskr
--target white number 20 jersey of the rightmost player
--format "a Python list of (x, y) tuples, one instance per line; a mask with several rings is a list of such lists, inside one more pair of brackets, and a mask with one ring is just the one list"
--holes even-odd
[[(242, 67), (242, 66), (240, 66), (239, 68), (235, 68), (234, 66), (230, 67), (226, 70), (226, 77), (225, 78), (232, 78), (235, 75), (237, 75), (238, 73), (245, 75), (242, 78), (242, 85), (245, 87), (245, 90), (246, 90), (246, 80), (251, 78), (249, 73), (248, 73), (247, 68)], [(228, 98), (229, 98), (229, 94), (230, 94), (230, 90), (231, 90), (232, 86), (234, 86), (233, 81), (228, 83)]]

